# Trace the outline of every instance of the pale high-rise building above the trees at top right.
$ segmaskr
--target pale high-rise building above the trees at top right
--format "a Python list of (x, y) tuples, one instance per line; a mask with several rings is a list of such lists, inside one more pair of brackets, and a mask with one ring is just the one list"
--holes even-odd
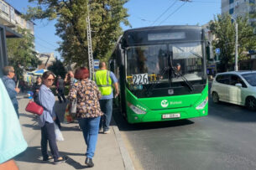
[[(232, 18), (254, 13), (256, 0), (222, 0), (222, 14), (229, 13)], [(249, 18), (250, 23), (256, 23), (256, 18)]]

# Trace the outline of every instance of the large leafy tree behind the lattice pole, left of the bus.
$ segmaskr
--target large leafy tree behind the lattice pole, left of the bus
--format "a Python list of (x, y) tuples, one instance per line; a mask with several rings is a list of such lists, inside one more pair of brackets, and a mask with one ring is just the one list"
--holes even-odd
[[(29, 0), (37, 7), (29, 8), (30, 19), (57, 19), (56, 34), (60, 36), (60, 54), (66, 63), (88, 63), (86, 17), (89, 9), (93, 55), (106, 59), (118, 36), (122, 33), (120, 23), (129, 25), (128, 0)], [(87, 5), (89, 4), (89, 8)]]

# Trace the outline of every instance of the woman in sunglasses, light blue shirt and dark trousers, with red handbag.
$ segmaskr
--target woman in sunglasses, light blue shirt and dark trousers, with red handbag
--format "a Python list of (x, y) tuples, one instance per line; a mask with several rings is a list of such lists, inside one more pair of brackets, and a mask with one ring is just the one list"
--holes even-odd
[(60, 157), (55, 137), (55, 95), (50, 90), (50, 86), (55, 80), (55, 75), (50, 71), (46, 71), (42, 79), (43, 85), (41, 85), (39, 90), (39, 105), (44, 108), (43, 114), (39, 116), (39, 126), (41, 126), (41, 152), (43, 161), (49, 161), (52, 158), (47, 152), (47, 142), (49, 142), (50, 152), (53, 155), (54, 163), (57, 164), (65, 162), (66, 157)]

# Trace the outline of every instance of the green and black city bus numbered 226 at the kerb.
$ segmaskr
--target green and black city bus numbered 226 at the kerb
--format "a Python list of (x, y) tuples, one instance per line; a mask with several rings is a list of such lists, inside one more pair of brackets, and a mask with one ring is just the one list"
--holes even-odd
[(108, 64), (120, 83), (114, 102), (129, 123), (208, 114), (204, 35), (203, 28), (187, 25), (123, 33)]

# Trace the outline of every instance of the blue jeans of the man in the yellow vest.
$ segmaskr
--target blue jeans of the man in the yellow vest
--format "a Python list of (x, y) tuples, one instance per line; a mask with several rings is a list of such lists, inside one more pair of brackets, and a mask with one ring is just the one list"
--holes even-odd
[(107, 131), (112, 118), (112, 99), (100, 100), (100, 106), (104, 113), (100, 121), (100, 129), (103, 128), (103, 131)]

